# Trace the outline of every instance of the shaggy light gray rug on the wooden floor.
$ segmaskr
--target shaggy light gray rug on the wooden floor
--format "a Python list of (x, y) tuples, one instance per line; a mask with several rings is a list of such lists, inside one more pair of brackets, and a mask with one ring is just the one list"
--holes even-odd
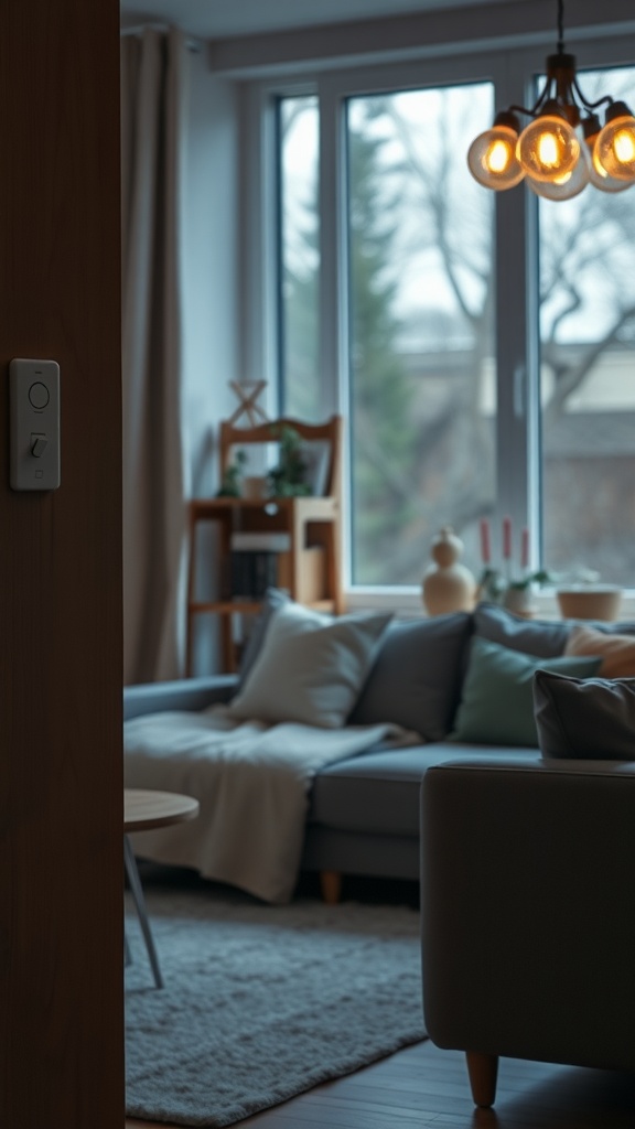
[(419, 914), (212, 885), (146, 891), (165, 988), (127, 905), (127, 1112), (227, 1126), (424, 1035)]

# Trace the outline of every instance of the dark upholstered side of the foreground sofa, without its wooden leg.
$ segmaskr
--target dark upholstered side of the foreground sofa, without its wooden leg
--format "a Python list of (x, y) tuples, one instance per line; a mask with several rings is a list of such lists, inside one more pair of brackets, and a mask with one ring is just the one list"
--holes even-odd
[(421, 911), (440, 1047), (635, 1067), (633, 762), (428, 769)]

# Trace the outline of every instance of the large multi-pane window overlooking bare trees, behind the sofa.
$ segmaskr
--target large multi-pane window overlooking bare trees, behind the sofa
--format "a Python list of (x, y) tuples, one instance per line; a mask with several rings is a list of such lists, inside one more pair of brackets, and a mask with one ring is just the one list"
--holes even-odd
[[(581, 75), (589, 97), (633, 103), (635, 67), (607, 65), (627, 50), (581, 45), (603, 68)], [(345, 417), (353, 586), (419, 585), (443, 525), (478, 572), (479, 519), (496, 555), (507, 516), (532, 568), (634, 586), (635, 189), (555, 203), (467, 169), (495, 107), (531, 100), (534, 64), (276, 91), (280, 402)]]

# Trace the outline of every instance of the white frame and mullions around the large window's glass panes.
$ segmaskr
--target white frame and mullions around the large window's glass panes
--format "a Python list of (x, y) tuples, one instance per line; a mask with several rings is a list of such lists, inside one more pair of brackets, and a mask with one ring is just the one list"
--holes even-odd
[[(579, 38), (580, 36), (580, 38)], [(635, 64), (635, 34), (591, 38), (569, 36), (580, 70)], [(574, 42), (575, 41), (575, 42)], [(245, 84), (242, 119), (242, 309), (243, 371), (264, 378), (276, 411), (278, 379), (278, 256), (275, 215), (276, 160), (272, 146), (275, 103), (279, 97), (316, 94), (320, 105), (320, 366), (324, 374), (322, 414), (348, 417), (348, 254), (347, 186), (343, 145), (346, 99), (388, 90), (424, 89), (477, 81), (494, 84), (496, 108), (531, 105), (534, 76), (541, 72), (553, 44), (453, 52), (403, 63), (377, 63), (268, 77)], [(609, 90), (610, 93), (610, 90)], [(635, 102), (635, 90), (634, 99)], [(490, 123), (484, 122), (484, 130)], [(635, 190), (634, 190), (635, 191)], [(541, 558), (540, 525), (540, 386), (538, 310), (538, 201), (529, 191), (496, 194), (496, 520), (510, 515), (532, 531), (532, 567)], [(348, 446), (348, 445), (346, 445)], [(345, 466), (345, 483), (349, 467)], [(346, 505), (345, 505), (346, 511)], [(345, 523), (345, 590), (353, 606), (420, 610), (418, 587), (369, 588), (353, 585), (349, 574), (349, 526)], [(426, 562), (421, 561), (421, 571)], [(630, 594), (629, 594), (630, 595)], [(632, 594), (635, 606), (635, 592)], [(630, 601), (628, 601), (628, 605)], [(547, 595), (541, 610), (555, 610)]]

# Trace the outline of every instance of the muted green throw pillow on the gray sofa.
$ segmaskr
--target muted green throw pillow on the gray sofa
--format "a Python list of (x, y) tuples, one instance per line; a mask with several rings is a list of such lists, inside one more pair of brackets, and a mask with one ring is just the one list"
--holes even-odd
[(593, 677), (601, 658), (538, 658), (472, 636), (461, 702), (449, 741), (538, 747), (533, 717), (536, 671)]

